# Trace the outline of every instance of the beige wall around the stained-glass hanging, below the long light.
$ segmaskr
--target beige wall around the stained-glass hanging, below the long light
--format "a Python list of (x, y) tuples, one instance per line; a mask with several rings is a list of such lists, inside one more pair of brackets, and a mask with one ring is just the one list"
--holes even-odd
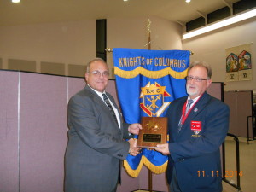
[[(194, 52), (191, 61), (207, 61), (213, 69), (212, 80), (224, 82), (224, 90), (256, 90), (256, 18), (226, 26), (195, 38), (183, 40), (183, 49)], [(251, 44), (252, 43), (252, 44)], [(225, 49), (251, 44), (253, 80), (225, 82)]]

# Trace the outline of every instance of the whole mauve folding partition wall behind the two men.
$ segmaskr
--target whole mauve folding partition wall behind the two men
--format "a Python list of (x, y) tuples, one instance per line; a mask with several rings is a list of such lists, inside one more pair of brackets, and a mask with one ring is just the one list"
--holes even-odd
[[(67, 146), (67, 102), (84, 79), (0, 70), (0, 191), (61, 192)], [(209, 93), (221, 96), (221, 84)], [(110, 92), (117, 101), (115, 81)], [(100, 173), (99, 173), (100, 174)], [(122, 170), (119, 192), (148, 189), (148, 169), (139, 177)], [(153, 175), (153, 190), (167, 191), (165, 173)]]

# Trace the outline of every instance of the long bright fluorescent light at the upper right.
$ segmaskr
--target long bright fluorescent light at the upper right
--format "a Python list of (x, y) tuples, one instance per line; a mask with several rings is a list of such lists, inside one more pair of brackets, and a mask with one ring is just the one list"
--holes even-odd
[(207, 26), (203, 26), (195, 31), (192, 32), (185, 32), (183, 33), (183, 39), (187, 39), (187, 38), (192, 38), (195, 37), (197, 35), (201, 35), (205, 32), (211, 32), (212, 30), (221, 28), (223, 26), (229, 26), (231, 24), (234, 24), (236, 22), (239, 22), (241, 20), (247, 20), (249, 18), (252, 18), (256, 16), (256, 9), (252, 9), (247, 11), (246, 13), (240, 14), (240, 15), (236, 15), (236, 16), (231, 16), (228, 19), (225, 20), (220, 20), (216, 23), (213, 23), (211, 25), (207, 25)]

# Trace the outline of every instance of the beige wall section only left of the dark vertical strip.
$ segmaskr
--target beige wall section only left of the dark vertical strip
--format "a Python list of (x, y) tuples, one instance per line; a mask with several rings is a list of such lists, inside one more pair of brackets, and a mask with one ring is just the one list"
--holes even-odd
[(59, 63), (64, 69), (58, 72), (67, 75), (69, 64), (84, 65), (95, 56), (96, 20), (0, 27), (3, 69), (9, 69), (9, 59), (36, 61), (37, 72), (42, 63)]

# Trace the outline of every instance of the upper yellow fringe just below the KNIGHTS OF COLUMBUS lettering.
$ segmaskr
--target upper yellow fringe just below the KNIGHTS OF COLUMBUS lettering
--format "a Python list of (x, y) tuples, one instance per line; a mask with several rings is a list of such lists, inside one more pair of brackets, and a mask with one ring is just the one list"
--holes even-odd
[(160, 71), (149, 71), (143, 67), (137, 67), (132, 71), (125, 71), (125, 70), (119, 69), (119, 67), (114, 67), (114, 74), (125, 79), (135, 78), (138, 74), (142, 74), (147, 78), (153, 78), (153, 79), (162, 78), (166, 75), (171, 75), (175, 79), (184, 79), (187, 76), (187, 73), (188, 73), (187, 71), (188, 69), (186, 69), (183, 72), (176, 72), (172, 70), (172, 68), (170, 67), (166, 67), (165, 69), (161, 69)]

